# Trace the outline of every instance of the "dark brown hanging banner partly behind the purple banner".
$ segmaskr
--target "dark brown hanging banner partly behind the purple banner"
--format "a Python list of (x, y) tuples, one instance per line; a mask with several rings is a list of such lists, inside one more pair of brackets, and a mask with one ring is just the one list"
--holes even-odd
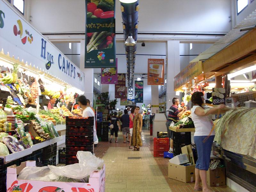
[(117, 84), (115, 84), (115, 98), (126, 98), (127, 91), (125, 92), (125, 73), (117, 74)]

